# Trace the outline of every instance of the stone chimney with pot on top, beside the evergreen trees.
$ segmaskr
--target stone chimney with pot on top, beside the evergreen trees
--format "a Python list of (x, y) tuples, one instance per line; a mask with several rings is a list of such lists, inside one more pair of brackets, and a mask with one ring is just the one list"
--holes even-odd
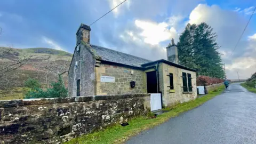
[(179, 64), (178, 60), (178, 48), (177, 45), (174, 44), (174, 39), (172, 38), (172, 44), (169, 44), (166, 47), (167, 60), (173, 63)]

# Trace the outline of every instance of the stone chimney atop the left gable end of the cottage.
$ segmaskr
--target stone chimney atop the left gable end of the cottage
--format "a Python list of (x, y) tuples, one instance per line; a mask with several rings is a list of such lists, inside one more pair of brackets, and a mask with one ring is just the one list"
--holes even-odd
[(76, 32), (76, 44), (80, 44), (81, 41), (85, 43), (90, 43), (90, 26), (81, 23)]

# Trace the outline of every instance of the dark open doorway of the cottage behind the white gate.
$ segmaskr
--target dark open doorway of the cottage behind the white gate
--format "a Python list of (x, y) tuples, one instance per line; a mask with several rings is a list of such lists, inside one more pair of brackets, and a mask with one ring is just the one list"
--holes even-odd
[(156, 71), (150, 71), (147, 74), (147, 89), (148, 93), (157, 93), (157, 78)]

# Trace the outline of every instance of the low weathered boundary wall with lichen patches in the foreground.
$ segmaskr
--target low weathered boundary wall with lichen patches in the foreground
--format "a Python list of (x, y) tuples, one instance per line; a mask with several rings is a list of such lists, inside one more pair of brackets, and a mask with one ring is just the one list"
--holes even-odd
[(60, 143), (150, 109), (150, 94), (0, 101), (0, 141)]

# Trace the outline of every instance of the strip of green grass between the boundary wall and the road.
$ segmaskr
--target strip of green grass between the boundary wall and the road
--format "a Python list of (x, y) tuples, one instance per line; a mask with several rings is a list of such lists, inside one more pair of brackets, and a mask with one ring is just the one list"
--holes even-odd
[(204, 97), (191, 100), (189, 102), (178, 103), (177, 105), (169, 108), (169, 112), (162, 115), (158, 115), (154, 119), (148, 119), (146, 117), (137, 117), (129, 121), (129, 125), (122, 127), (119, 124), (108, 127), (105, 130), (82, 135), (81, 137), (72, 139), (66, 144), (77, 144), (77, 143), (124, 143), (130, 137), (140, 133), (143, 130), (150, 129), (158, 124), (168, 121), (171, 117), (178, 116), (184, 111), (196, 108), (202, 105), (204, 102), (212, 99), (216, 95), (219, 95), (225, 89), (224, 85), (218, 87)]

